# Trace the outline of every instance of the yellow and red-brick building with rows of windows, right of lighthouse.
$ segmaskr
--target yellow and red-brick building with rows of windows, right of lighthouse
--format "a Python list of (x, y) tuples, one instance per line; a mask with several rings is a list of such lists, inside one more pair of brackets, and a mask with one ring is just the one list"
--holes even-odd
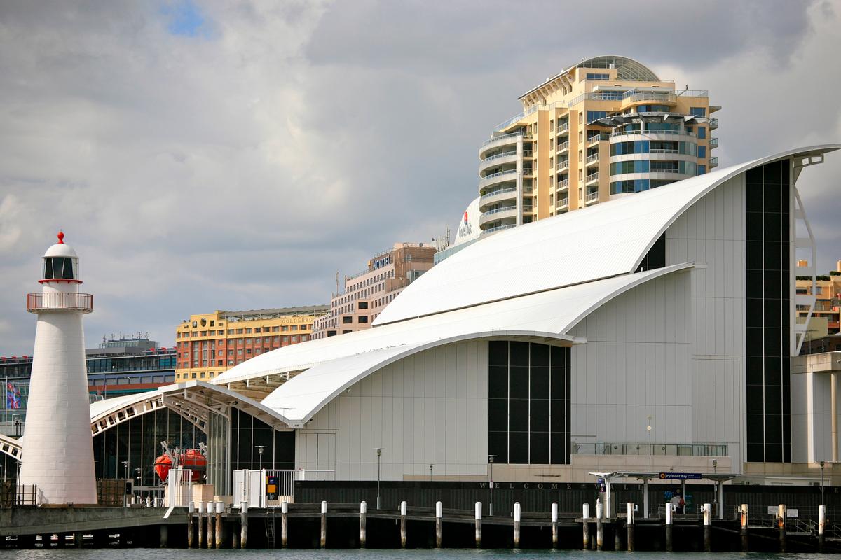
[(175, 379), (213, 379), (226, 369), (275, 348), (303, 343), (327, 306), (191, 315), (175, 329)]

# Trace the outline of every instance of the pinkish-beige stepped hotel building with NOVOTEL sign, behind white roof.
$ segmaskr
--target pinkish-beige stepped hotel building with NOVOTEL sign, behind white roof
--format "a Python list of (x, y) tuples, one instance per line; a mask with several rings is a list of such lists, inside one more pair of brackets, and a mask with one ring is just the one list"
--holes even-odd
[(432, 268), (435, 252), (430, 243), (394, 243), (392, 249), (375, 254), (365, 270), (345, 276), (344, 290), (333, 294), (330, 312), (315, 321), (312, 338), (370, 328), (385, 306)]

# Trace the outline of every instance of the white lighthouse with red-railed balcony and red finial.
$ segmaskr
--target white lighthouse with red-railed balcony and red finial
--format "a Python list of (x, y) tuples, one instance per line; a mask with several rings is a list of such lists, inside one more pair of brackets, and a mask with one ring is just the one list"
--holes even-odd
[(93, 439), (82, 315), (93, 296), (79, 293), (79, 258), (58, 233), (44, 255), (19, 484), (36, 484), (44, 504), (96, 504)]

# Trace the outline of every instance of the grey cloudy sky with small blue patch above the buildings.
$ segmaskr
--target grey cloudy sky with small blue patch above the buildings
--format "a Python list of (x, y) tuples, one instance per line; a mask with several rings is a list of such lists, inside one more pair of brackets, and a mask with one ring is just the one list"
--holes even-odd
[[(454, 226), (517, 97), (627, 55), (722, 105), (722, 165), (841, 141), (841, 3), (0, 2), (0, 354), (40, 256), (82, 257), (88, 346), (191, 313), (329, 301)], [(841, 154), (801, 175), (841, 259)]]

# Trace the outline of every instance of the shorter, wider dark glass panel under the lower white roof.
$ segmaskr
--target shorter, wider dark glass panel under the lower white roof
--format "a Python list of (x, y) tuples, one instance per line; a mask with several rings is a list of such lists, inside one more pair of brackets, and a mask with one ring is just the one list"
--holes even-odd
[(569, 464), (569, 348), (488, 346), (488, 453), (495, 463)]

